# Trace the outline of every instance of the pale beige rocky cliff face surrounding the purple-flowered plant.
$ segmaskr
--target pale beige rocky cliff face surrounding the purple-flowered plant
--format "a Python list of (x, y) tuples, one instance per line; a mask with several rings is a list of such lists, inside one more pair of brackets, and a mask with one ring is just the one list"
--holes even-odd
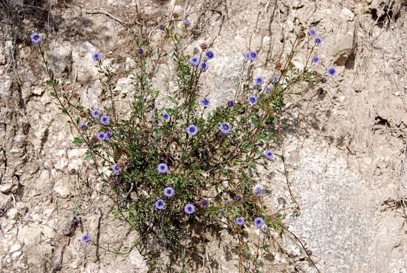
[[(147, 272), (136, 251), (115, 258), (84, 247), (79, 238), (99, 222), (100, 241), (126, 246), (134, 239), (108, 215), (109, 204), (98, 195), (82, 195), (75, 168), (91, 175), (82, 158), (85, 149), (72, 144), (71, 130), (49, 95), (46, 75), (28, 36), (44, 40), (55, 74), (66, 88), (81, 94), (86, 106), (103, 105), (101, 78), (92, 53), (104, 62), (119, 55), (117, 100), (125, 115), (132, 99), (132, 81), (123, 73), (131, 64), (133, 41), (126, 23), (138, 18), (127, 1), (53, 3), (50, 21), (23, 18), (12, 28), (5, 17), (0, 52), (0, 263), (3, 272), (42, 272), (55, 265), (63, 230), (71, 211), (80, 212), (65, 241), (62, 272)], [(175, 1), (138, 2), (144, 22), (164, 21)], [(44, 8), (44, 7), (43, 7)], [(186, 51), (193, 54), (202, 41), (216, 52), (205, 73), (202, 90), (213, 106), (234, 92), (243, 53), (259, 53), (253, 75), (270, 76), (284, 59), (289, 39), (300, 26), (313, 27), (323, 38), (317, 54), (318, 72), (329, 66), (337, 75), (306, 94), (287, 100), (282, 123), (291, 187), (301, 215), (285, 215), (290, 230), (307, 242), (322, 272), (407, 272), (405, 253), (407, 182), (405, 171), (407, 50), (405, 4), (401, 1), (179, 1), (175, 11), (188, 17), (194, 31)], [(160, 12), (161, 17), (157, 17)], [(46, 18), (46, 17), (45, 17)], [(37, 19), (37, 20), (36, 20)], [(25, 20), (25, 21), (24, 21)], [(180, 25), (178, 25), (180, 27)], [(15, 31), (15, 32), (13, 32)], [(13, 36), (12, 34), (16, 34)], [(153, 44), (160, 35), (153, 36)], [(14, 39), (16, 37), (17, 39)], [(168, 51), (171, 45), (167, 45)], [(295, 65), (302, 66), (301, 55)], [(172, 57), (161, 59), (153, 86), (161, 90), (157, 107), (175, 92)], [(205, 92), (204, 92), (205, 93)], [(273, 147), (276, 151), (279, 146)], [(272, 209), (290, 202), (284, 177), (275, 160), (253, 171)], [(254, 234), (248, 230), (248, 237)], [(235, 244), (225, 230), (209, 237), (208, 250), (222, 272), (236, 272)], [(312, 272), (292, 242), (269, 229), (260, 255), (263, 272)], [(160, 253), (160, 246), (151, 246)], [(159, 255), (159, 254), (157, 254)], [(204, 270), (199, 267), (198, 270)], [(209, 269), (206, 268), (205, 271)], [(220, 272), (220, 270), (219, 270)]]

